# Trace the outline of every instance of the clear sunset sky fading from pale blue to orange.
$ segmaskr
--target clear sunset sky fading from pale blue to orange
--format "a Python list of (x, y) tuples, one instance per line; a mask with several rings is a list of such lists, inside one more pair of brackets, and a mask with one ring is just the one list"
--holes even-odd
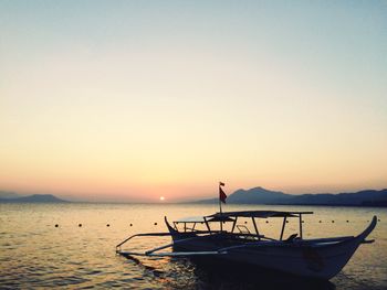
[(387, 187), (386, 1), (0, 0), (0, 190)]

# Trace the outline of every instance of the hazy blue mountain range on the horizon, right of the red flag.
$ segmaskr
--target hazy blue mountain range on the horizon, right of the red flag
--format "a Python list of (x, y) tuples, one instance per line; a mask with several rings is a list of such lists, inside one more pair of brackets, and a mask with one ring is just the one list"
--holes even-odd
[[(218, 198), (201, 200), (194, 203), (218, 203)], [(364, 190), (349, 193), (286, 194), (263, 187), (238, 190), (227, 198), (229, 204), (272, 204), (272, 205), (331, 205), (331, 206), (387, 206), (387, 189)]]

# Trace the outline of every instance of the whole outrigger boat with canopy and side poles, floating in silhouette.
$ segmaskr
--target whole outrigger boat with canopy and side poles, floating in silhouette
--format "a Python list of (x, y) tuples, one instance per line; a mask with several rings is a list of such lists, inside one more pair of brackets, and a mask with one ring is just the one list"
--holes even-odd
[[(167, 233), (133, 235), (116, 246), (116, 253), (125, 257), (210, 256), (230, 264), (243, 262), (295, 276), (328, 280), (343, 269), (360, 244), (374, 241), (366, 240), (366, 238), (377, 224), (376, 216), (368, 227), (357, 236), (305, 239), (302, 216), (310, 214), (313, 212), (220, 212), (213, 215), (176, 221), (172, 226), (165, 217)], [(251, 218), (253, 233), (245, 225), (238, 224), (241, 218)], [(282, 218), (279, 238), (260, 234), (258, 222), (266, 218)], [(299, 233), (284, 238), (286, 222), (290, 218), (299, 219)], [(227, 223), (231, 223), (228, 226), (231, 227), (230, 230), (223, 229), (223, 226), (227, 227)], [(198, 225), (203, 225), (206, 228), (197, 229)], [(145, 253), (122, 249), (124, 244), (135, 237), (150, 236), (170, 236), (172, 243)], [(167, 248), (172, 248), (174, 251), (161, 251)]]

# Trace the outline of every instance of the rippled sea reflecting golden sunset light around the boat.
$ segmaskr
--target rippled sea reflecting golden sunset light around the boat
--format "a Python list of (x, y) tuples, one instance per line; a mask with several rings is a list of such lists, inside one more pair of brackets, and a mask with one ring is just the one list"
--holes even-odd
[[(380, 222), (368, 237), (376, 241), (360, 246), (339, 275), (317, 288), (387, 289), (386, 210), (254, 205), (226, 205), (224, 208), (243, 210), (313, 211), (314, 215), (304, 218), (304, 237), (356, 235), (367, 226), (373, 215), (377, 215)], [(163, 222), (165, 215), (174, 221), (184, 216), (208, 215), (216, 211), (215, 205), (0, 204), (0, 288), (304, 287), (301, 281), (292, 281), (293, 284), (286, 281), (282, 284), (281, 280), (285, 278), (280, 275), (268, 276), (249, 269), (233, 269), (227, 265), (206, 266), (186, 258), (132, 260), (115, 254), (115, 245), (129, 235), (166, 232)], [(291, 222), (285, 236), (295, 233), (296, 226), (296, 223)], [(268, 236), (278, 237), (280, 233), (280, 224), (272, 219), (269, 224), (261, 222), (260, 228)], [(128, 244), (128, 247), (145, 250), (169, 241), (169, 237), (138, 238)]]

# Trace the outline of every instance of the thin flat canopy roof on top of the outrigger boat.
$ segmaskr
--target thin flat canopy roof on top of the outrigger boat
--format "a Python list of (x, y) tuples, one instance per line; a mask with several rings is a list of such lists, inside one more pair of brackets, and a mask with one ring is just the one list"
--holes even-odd
[(279, 212), (279, 211), (240, 211), (223, 212), (207, 216), (191, 216), (176, 221), (175, 223), (205, 223), (205, 222), (233, 222), (237, 217), (297, 217), (303, 214), (313, 214), (313, 212)]

